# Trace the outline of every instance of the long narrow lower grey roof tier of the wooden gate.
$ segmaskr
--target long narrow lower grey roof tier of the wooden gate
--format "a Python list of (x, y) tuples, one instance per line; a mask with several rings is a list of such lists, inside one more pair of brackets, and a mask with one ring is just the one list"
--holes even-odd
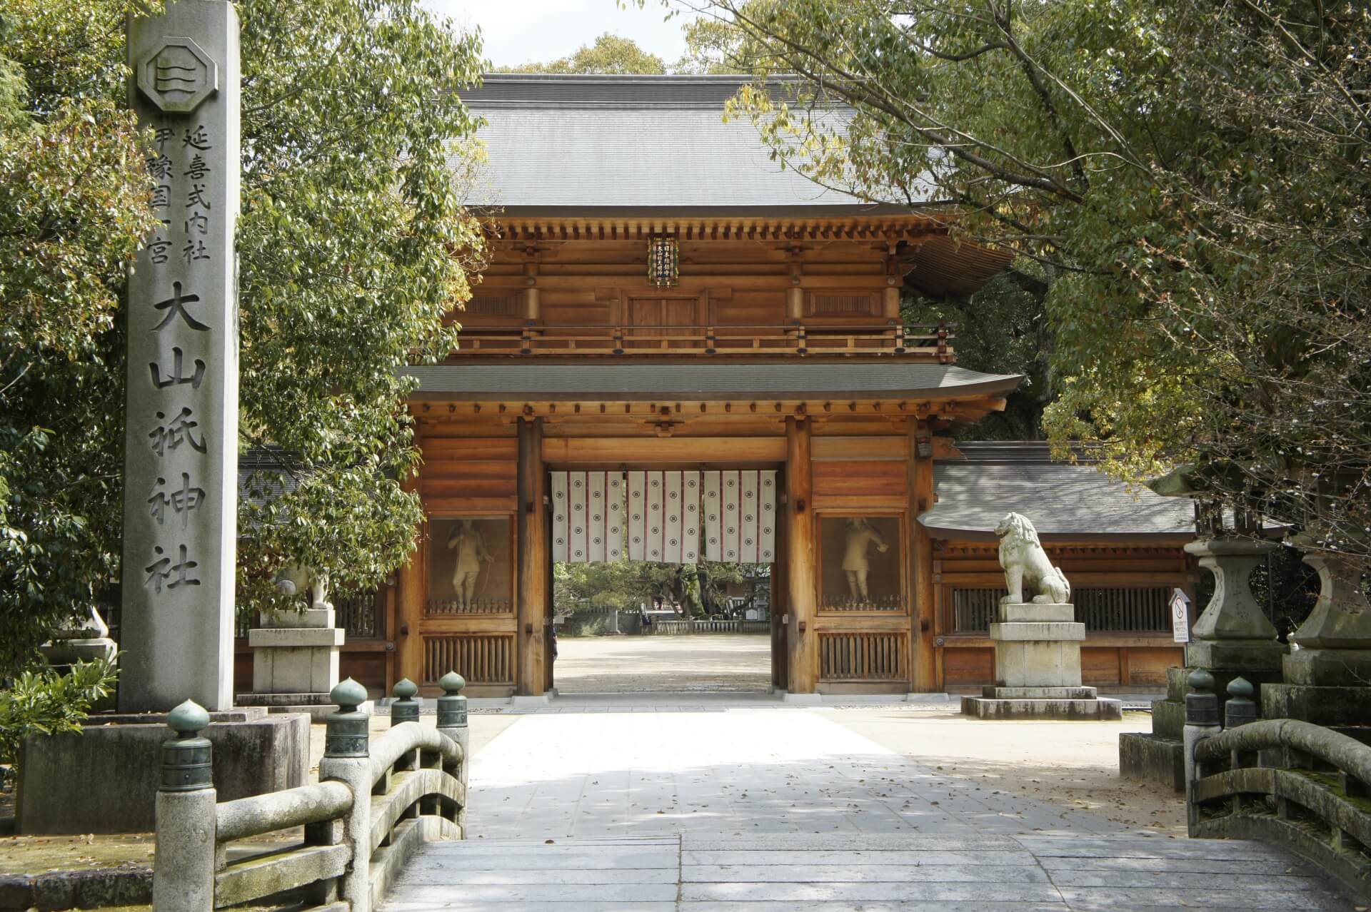
[[(712, 398), (871, 398), (919, 394), (945, 398), (1002, 394), (1017, 375), (980, 374), (949, 364), (764, 363), (712, 364), (436, 364), (403, 371), (420, 381), (418, 394), (491, 400), (653, 400)], [(943, 396), (941, 396), (941, 393)]]

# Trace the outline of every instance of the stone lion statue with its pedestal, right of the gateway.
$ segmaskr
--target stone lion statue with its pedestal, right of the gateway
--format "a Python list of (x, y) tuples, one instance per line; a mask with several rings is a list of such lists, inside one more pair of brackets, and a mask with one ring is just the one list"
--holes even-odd
[[(1076, 608), (1067, 601), (1071, 586), (1047, 560), (1032, 523), (1009, 514), (995, 534), (1009, 589), (990, 624), (995, 683), (979, 697), (962, 697), (962, 713), (978, 719), (1121, 719), (1119, 700), (1101, 700), (1094, 687), (1080, 683), (1086, 626), (1076, 620)], [(1026, 585), (1041, 594), (1027, 601)]]

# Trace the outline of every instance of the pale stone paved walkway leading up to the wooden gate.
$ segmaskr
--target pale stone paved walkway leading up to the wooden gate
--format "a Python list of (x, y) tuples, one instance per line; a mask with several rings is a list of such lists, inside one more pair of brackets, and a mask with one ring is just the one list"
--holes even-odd
[(387, 912), (1350, 909), (1265, 846), (978, 787), (813, 711), (524, 716), (468, 813)]

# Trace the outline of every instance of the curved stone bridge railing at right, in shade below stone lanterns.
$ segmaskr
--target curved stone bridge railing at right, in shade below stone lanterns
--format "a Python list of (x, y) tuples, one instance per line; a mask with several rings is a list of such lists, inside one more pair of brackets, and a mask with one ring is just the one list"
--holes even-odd
[(1242, 678), (1220, 726), (1213, 676), (1196, 671), (1189, 683), (1190, 835), (1281, 844), (1371, 900), (1371, 746), (1308, 722), (1256, 720)]

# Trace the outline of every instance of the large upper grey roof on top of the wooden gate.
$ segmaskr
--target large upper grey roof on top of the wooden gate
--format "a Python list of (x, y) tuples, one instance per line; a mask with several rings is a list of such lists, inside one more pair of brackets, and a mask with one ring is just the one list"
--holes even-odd
[[(772, 162), (750, 121), (723, 121), (739, 85), (738, 77), (485, 77), (462, 93), (487, 121), (477, 137), (488, 163), (469, 201), (507, 211), (901, 211), (825, 190)], [(845, 114), (827, 116), (840, 123)]]

